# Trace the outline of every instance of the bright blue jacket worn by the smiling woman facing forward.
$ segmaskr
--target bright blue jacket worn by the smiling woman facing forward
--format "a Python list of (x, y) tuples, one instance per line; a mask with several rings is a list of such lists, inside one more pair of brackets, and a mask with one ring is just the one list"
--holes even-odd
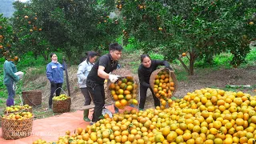
[(50, 82), (63, 83), (65, 67), (59, 62), (50, 62), (46, 66), (46, 76)]

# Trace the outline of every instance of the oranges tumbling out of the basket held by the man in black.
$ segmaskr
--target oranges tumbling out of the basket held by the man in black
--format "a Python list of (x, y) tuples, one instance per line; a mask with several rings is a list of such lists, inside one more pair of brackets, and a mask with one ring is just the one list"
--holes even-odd
[(114, 99), (114, 106), (118, 109), (123, 109), (129, 104), (138, 105), (138, 85), (134, 82), (134, 78), (126, 76), (119, 78), (117, 82), (110, 83), (109, 89), (112, 98)]

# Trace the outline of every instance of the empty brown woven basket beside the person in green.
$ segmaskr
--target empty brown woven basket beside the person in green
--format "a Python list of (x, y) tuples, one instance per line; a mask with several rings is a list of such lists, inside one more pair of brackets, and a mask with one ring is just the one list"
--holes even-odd
[(22, 91), (23, 104), (29, 106), (41, 106), (42, 103), (42, 91), (41, 90), (29, 90)]

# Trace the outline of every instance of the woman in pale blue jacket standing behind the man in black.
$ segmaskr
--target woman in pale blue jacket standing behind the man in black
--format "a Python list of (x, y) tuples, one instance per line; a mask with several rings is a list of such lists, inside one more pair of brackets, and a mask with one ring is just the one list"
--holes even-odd
[[(86, 79), (88, 74), (90, 73), (91, 68), (94, 66), (94, 62), (97, 59), (98, 54), (94, 51), (88, 51), (86, 53), (86, 59), (79, 64), (78, 66), (78, 85), (80, 90), (82, 91), (83, 96), (85, 97), (85, 105), (90, 105), (91, 98), (90, 94), (88, 93), (87, 86), (86, 86)], [(83, 112), (83, 119), (86, 122), (90, 122), (88, 118), (89, 110), (84, 110)]]

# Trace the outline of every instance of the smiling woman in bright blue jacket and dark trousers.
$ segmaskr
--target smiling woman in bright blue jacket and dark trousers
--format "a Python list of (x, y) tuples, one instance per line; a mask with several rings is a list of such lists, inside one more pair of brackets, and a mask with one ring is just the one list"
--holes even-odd
[(62, 83), (64, 80), (63, 70), (65, 67), (58, 62), (58, 57), (56, 54), (50, 54), (51, 62), (46, 66), (46, 76), (50, 81), (50, 98), (49, 98), (49, 109), (52, 109), (52, 102), (54, 98), (54, 92), (56, 96), (59, 96), (61, 93)]

